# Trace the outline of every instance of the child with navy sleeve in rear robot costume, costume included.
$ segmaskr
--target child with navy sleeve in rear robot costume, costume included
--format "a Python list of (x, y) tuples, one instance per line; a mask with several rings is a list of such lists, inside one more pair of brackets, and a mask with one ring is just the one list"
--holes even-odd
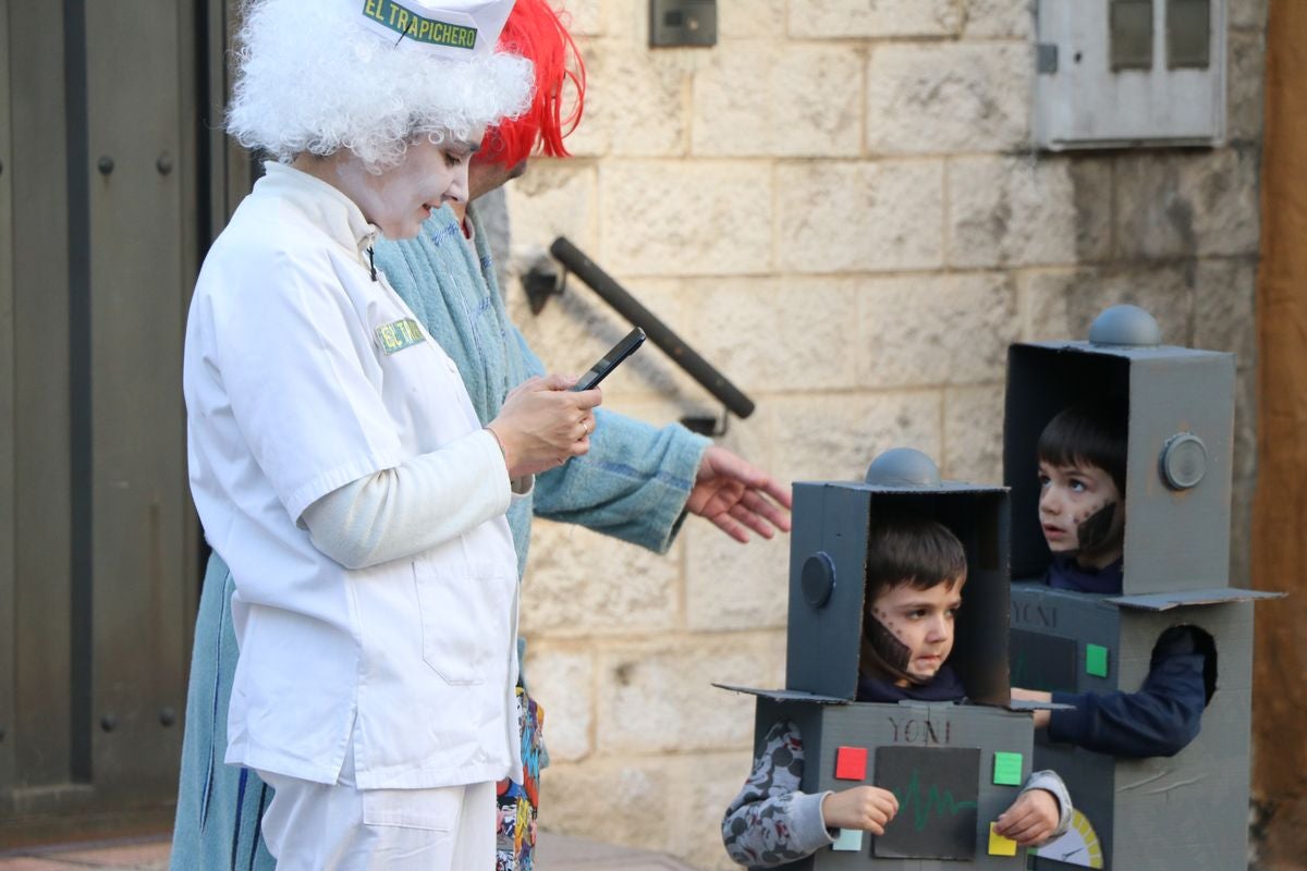
[(1234, 356), (1162, 346), (1133, 306), (1009, 350), (1013, 695), (1070, 705), (1035, 714), (1035, 759), (1077, 806), (1035, 868), (1247, 864), (1252, 601), (1274, 594), (1230, 586), (1233, 424)]

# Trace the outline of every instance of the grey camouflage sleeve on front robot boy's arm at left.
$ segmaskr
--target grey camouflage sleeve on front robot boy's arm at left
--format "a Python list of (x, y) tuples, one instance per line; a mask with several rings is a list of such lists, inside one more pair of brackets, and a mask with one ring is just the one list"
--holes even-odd
[(721, 820), (721, 841), (732, 862), (772, 868), (834, 844), (821, 812), (829, 793), (800, 791), (802, 776), (804, 743), (799, 727), (778, 722), (767, 733), (749, 780)]

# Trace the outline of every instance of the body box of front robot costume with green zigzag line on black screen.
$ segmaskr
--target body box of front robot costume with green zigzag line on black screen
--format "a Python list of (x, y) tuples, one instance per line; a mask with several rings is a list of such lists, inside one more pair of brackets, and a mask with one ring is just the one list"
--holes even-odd
[[(788, 720), (799, 727), (805, 793), (869, 784), (890, 789), (899, 798), (898, 816), (884, 837), (850, 832), (840, 844), (843, 849), (823, 847), (783, 867), (805, 871), (1026, 867), (1026, 850), (1013, 842), (1009, 842), (1010, 855), (989, 853), (989, 824), (1016, 800), (1031, 772), (1034, 727), (1029, 714), (988, 705), (868, 704), (801, 692), (725, 688), (758, 696), (755, 756), (774, 723)], [(839, 763), (848, 751), (860, 757), (853, 760), (857, 770), (840, 772)], [(861, 777), (856, 777), (859, 773)], [(895, 855), (904, 851), (915, 855)], [(920, 858), (923, 853), (954, 858)]]

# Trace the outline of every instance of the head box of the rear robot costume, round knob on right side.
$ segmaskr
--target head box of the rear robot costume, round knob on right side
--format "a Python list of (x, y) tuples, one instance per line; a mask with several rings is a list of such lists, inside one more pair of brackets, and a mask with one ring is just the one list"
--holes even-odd
[(1050, 563), (1039, 526), (1039, 434), (1067, 406), (1114, 398), (1129, 406), (1123, 593), (1229, 586), (1234, 375), (1233, 354), (1185, 347), (1010, 346), (1012, 577), (1040, 577)]

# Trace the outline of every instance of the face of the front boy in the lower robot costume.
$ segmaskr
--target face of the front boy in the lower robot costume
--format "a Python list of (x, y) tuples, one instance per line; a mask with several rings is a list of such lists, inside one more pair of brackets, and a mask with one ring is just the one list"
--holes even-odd
[(918, 683), (927, 683), (953, 652), (953, 622), (959, 607), (961, 580), (936, 584), (928, 590), (899, 584), (876, 597), (872, 616), (907, 648), (908, 659), (903, 671)]

